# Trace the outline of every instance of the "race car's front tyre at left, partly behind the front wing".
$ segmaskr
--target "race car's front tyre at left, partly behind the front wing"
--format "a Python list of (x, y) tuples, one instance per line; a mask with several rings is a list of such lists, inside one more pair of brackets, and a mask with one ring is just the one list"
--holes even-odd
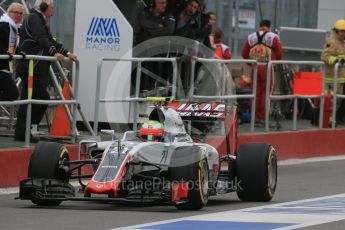
[[(68, 170), (63, 162), (69, 161), (66, 147), (54, 142), (39, 142), (34, 148), (29, 163), (28, 177), (34, 179), (56, 179), (69, 181)], [(32, 203), (43, 206), (58, 206), (61, 201), (31, 199)]]

